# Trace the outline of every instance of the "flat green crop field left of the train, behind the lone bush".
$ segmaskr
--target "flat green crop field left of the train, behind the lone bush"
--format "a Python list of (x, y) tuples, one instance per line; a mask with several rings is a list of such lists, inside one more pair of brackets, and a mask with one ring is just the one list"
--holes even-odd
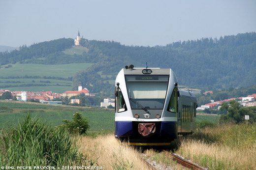
[(0, 129), (17, 125), (30, 113), (32, 117), (40, 118), (50, 126), (63, 124), (62, 120), (72, 120), (74, 113), (81, 113), (89, 120), (90, 130), (110, 131), (114, 129), (114, 111), (100, 108), (84, 108), (72, 106), (55, 106), (48, 104), (28, 104), (0, 102)]

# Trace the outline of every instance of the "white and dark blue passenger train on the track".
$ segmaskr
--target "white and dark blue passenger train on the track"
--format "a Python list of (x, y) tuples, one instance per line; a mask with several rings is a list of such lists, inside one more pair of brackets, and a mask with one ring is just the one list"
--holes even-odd
[(130, 145), (169, 145), (196, 126), (196, 97), (178, 88), (170, 68), (122, 68), (115, 80), (115, 138)]

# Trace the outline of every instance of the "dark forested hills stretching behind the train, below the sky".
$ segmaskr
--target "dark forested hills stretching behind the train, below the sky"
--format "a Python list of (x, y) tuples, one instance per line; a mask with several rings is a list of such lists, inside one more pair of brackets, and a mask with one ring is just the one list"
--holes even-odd
[(256, 85), (256, 32), (155, 47), (82, 39), (84, 51), (68, 53), (73, 43), (71, 38), (62, 38), (22, 46), (10, 53), (0, 53), (0, 65), (93, 63), (72, 79), (74, 88), (83, 85), (91, 92), (109, 90), (125, 65), (145, 67), (146, 62), (149, 67), (172, 68), (179, 85), (204, 89)]

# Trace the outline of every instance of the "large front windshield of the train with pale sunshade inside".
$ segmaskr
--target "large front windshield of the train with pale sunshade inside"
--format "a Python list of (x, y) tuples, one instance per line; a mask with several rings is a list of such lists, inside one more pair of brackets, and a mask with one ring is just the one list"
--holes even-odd
[(126, 76), (131, 109), (163, 109), (169, 76)]

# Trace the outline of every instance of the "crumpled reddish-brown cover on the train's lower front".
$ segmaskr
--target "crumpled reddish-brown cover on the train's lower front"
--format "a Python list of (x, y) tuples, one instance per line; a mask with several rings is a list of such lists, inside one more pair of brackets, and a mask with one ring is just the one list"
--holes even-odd
[(156, 123), (139, 123), (138, 132), (143, 137), (150, 137), (156, 132)]

